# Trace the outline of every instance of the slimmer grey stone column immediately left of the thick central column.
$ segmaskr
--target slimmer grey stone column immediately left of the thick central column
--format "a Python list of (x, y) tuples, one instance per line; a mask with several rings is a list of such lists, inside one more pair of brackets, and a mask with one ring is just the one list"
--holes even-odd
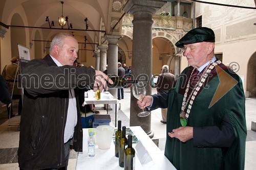
[[(122, 35), (105, 35), (105, 39), (109, 41), (108, 48), (108, 75), (117, 75), (117, 58), (118, 58), (118, 40)], [(110, 89), (110, 93), (117, 99), (117, 89)]]

